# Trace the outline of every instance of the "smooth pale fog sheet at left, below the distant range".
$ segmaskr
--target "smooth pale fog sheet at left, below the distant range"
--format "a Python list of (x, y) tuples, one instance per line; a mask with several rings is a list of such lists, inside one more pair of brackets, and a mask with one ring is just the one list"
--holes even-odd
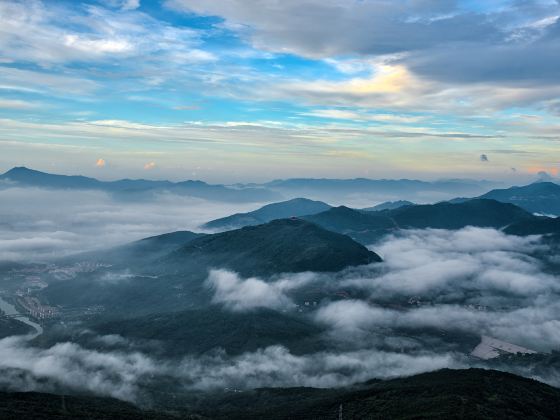
[(199, 225), (258, 204), (161, 193), (117, 200), (101, 191), (0, 189), (0, 261), (46, 260)]

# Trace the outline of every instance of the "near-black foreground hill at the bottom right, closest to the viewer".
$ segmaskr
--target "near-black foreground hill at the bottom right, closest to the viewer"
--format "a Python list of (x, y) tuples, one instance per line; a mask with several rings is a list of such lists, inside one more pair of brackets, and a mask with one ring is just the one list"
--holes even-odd
[(560, 390), (496, 370), (442, 369), (350, 388), (262, 388), (190, 406), (215, 419), (555, 419)]

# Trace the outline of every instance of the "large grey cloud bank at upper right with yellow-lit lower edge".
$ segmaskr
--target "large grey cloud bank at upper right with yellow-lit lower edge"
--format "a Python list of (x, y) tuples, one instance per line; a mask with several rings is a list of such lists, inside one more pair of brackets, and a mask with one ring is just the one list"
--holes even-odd
[[(322, 59), (346, 77), (372, 74), (344, 81), (273, 78), (262, 87), (305, 104), (477, 113), (545, 105), (560, 94), (560, 7), (551, 2), (485, 4), (483, 10), (460, 2), (383, 0), (166, 4), (222, 18), (218, 26), (255, 49)], [(402, 89), (377, 83), (384, 67), (399, 69), (393, 87)], [(251, 81), (247, 97), (258, 84)]]

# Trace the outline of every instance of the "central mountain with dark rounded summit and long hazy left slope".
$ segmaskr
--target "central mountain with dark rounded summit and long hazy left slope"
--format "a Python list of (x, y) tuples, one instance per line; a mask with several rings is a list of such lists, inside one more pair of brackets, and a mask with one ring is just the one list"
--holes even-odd
[[(165, 240), (155, 237), (149, 242)], [(132, 249), (136, 246), (138, 243)], [(212, 291), (205, 280), (212, 268), (267, 280), (280, 273), (332, 272), (381, 261), (348, 236), (301, 219), (279, 219), (196, 237), (178, 248), (165, 248), (168, 253), (162, 257), (157, 249), (148, 247), (148, 254), (143, 254), (155, 258), (119, 257), (117, 267), (102, 267), (71, 280), (51, 282), (39, 294), (46, 302), (65, 308), (99, 305), (136, 316), (162, 312), (161, 308), (171, 312), (206, 307)]]

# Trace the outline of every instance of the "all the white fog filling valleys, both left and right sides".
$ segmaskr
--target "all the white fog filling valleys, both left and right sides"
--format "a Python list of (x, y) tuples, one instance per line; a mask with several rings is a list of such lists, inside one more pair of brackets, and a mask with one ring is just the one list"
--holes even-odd
[[(166, 194), (117, 201), (101, 192), (19, 188), (0, 191), (0, 202), (0, 260), (19, 261), (197, 231), (210, 219), (258, 207)], [(30, 337), (8, 337), (0, 340), (0, 387), (70, 389), (138, 403), (165, 378), (186, 391), (334, 387), (480, 365), (468, 353), (482, 335), (539, 352), (560, 348), (560, 279), (549, 269), (555, 256), (540, 237), (473, 227), (408, 230), (369, 248), (382, 263), (271, 278), (243, 278), (215, 267), (204, 283), (217, 310), (295, 314), (322, 331), (327, 350), (294, 354), (278, 342), (234, 356), (215, 349), (162, 359), (115, 334), (97, 337), (98, 347), (71, 342), (37, 347)], [(110, 285), (130, 278), (127, 271), (109, 271), (101, 280)], [(310, 289), (324, 295), (300, 313), (301, 293)], [(345, 298), (336, 297), (337, 291)], [(529, 368), (511, 369), (560, 384), (556, 370), (539, 376)]]

